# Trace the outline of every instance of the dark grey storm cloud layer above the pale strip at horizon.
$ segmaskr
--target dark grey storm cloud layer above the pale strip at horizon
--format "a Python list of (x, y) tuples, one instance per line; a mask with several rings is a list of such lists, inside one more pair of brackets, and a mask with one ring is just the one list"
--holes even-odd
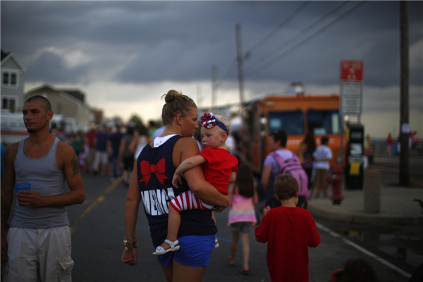
[[(338, 83), (342, 59), (364, 61), (366, 85), (399, 83), (399, 4), (369, 1), (350, 16), (283, 59), (260, 71), (267, 60), (253, 63), (319, 20), (338, 1), (310, 1), (295, 18), (266, 42), (255, 46), (302, 1), (2, 1), (1, 44), (28, 66), (27, 81), (52, 79), (78, 82), (87, 78), (118, 82), (210, 79), (212, 65), (219, 78), (235, 59), (235, 23), (242, 25), (246, 80)], [(317, 29), (290, 42), (274, 56), (312, 35), (360, 2), (345, 4)], [(410, 1), (410, 46), (423, 38), (422, 2)], [(80, 50), (90, 63), (67, 66), (44, 49)], [(43, 51), (44, 50), (44, 51)], [(36, 55), (39, 54), (39, 55)], [(125, 57), (133, 58), (130, 62)], [(51, 65), (49, 65), (51, 64)], [(36, 69), (35, 69), (36, 68)], [(55, 69), (52, 71), (51, 69)], [(116, 68), (116, 71), (113, 71)], [(235, 68), (230, 78), (236, 79)], [(410, 83), (422, 85), (423, 66), (410, 71)], [(53, 82), (53, 81), (52, 81)]]

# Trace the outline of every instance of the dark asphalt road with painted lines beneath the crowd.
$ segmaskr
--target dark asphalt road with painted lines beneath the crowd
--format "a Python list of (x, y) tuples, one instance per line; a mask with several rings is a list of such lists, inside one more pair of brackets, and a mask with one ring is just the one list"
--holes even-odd
[[(73, 281), (165, 281), (159, 263), (152, 255), (154, 249), (142, 204), (137, 221), (138, 264), (131, 267), (121, 262), (122, 240), (125, 235), (123, 212), (128, 188), (118, 181), (112, 183), (105, 176), (84, 175), (83, 178), (85, 203), (68, 207), (69, 220), (73, 228), (72, 257), (75, 261)], [(231, 238), (231, 230), (226, 226), (228, 209), (215, 215), (220, 247), (212, 253), (212, 262), (207, 266), (204, 281), (270, 281), (266, 266), (266, 244), (255, 241), (252, 231), (251, 274), (249, 276), (240, 274), (242, 266), (240, 243), (237, 265), (228, 265)], [(320, 227), (321, 244), (316, 248), (309, 248), (309, 281), (330, 281), (331, 273), (341, 269), (347, 259), (353, 258), (362, 258), (372, 264), (379, 281), (408, 281), (410, 276), (407, 278), (407, 274), (415, 271), (417, 268), (415, 265), (421, 259), (418, 254), (412, 261), (393, 257), (379, 248), (378, 244), (381, 241), (379, 239), (372, 243), (372, 240), (360, 240), (360, 237), (348, 235), (350, 233), (346, 231), (357, 231), (357, 226), (353, 226), (353, 229), (351, 226), (343, 226), (343, 229), (340, 229), (335, 223), (323, 221), (317, 223)], [(374, 226), (359, 226), (359, 228), (361, 232), (368, 231), (369, 228), (375, 230)], [(379, 228), (376, 228), (376, 231), (378, 230)], [(416, 230), (410, 226), (400, 226), (394, 231), (390, 229), (389, 232), (399, 234), (398, 240), (401, 240), (400, 236), (407, 236), (409, 233), (414, 236), (413, 238), (419, 238), (420, 241), (415, 240), (412, 243), (415, 245), (410, 245), (408, 248), (422, 246), (422, 236), (416, 235)], [(339, 235), (340, 233), (343, 235)], [(389, 244), (399, 246), (407, 243), (393, 240)], [(364, 249), (360, 249), (360, 246)]]

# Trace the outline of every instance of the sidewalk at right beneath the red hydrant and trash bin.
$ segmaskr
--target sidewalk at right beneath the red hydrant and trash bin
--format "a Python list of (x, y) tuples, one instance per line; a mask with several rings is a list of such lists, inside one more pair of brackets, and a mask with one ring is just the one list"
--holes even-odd
[(310, 198), (307, 209), (316, 218), (347, 223), (370, 223), (375, 225), (421, 225), (423, 210), (422, 188), (381, 187), (381, 211), (377, 214), (364, 212), (363, 190), (345, 190), (341, 205), (333, 206), (329, 198)]

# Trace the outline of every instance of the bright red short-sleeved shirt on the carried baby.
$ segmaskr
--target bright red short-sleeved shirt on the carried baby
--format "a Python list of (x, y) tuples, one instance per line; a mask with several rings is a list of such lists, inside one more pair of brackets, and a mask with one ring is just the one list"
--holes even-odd
[(204, 148), (200, 156), (207, 159), (202, 165), (204, 178), (223, 195), (228, 195), (229, 178), (232, 171), (238, 171), (238, 159), (227, 149)]

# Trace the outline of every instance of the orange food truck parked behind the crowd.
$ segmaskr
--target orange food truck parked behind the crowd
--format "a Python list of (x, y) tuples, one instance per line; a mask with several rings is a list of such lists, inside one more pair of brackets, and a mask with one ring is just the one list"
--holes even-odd
[(317, 145), (326, 135), (333, 153), (331, 164), (335, 164), (341, 147), (339, 94), (274, 95), (245, 104), (240, 151), (255, 173), (262, 172), (270, 153), (269, 133), (276, 129), (286, 131), (286, 148), (295, 154), (306, 133), (314, 133)]

